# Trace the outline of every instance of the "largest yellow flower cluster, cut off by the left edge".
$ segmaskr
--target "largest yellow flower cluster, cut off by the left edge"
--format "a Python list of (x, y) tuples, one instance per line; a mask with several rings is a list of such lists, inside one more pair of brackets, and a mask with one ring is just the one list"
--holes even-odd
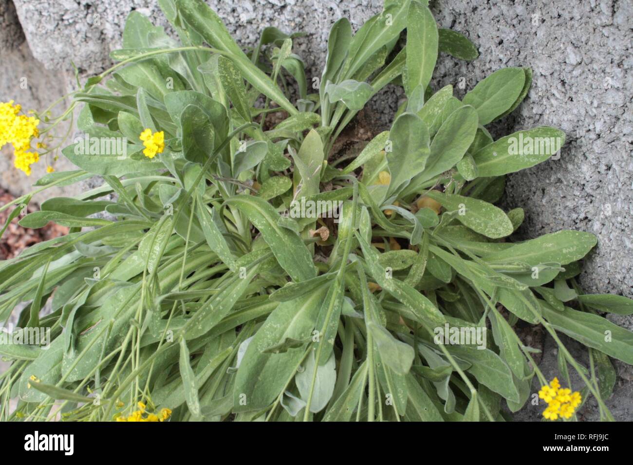
[(0, 102), (0, 147), (4, 144), (13, 145), (13, 164), (30, 176), (31, 165), (39, 161), (37, 152), (28, 151), (31, 148), (31, 139), (39, 137), (39, 120), (34, 116), (18, 115), (20, 109), (22, 107), (14, 105), (13, 100)]

